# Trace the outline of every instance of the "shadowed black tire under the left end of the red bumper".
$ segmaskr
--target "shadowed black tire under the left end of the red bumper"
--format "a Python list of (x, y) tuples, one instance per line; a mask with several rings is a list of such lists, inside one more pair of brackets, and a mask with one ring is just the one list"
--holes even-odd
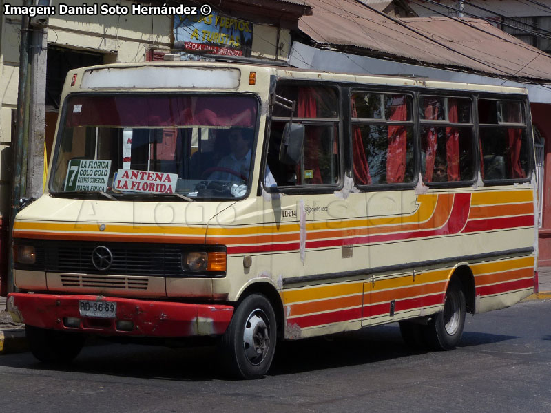
[(85, 337), (76, 332), (25, 326), (30, 351), (43, 363), (67, 364), (81, 352)]

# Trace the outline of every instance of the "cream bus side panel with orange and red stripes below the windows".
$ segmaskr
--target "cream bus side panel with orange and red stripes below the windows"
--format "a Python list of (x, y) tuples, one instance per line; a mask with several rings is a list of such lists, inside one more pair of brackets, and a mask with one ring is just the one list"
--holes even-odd
[[(288, 338), (430, 315), (441, 310), (455, 265), (532, 255), (528, 185), (350, 193), (346, 199), (282, 195), (276, 201), (236, 204), (231, 224), (220, 214), (222, 225), (209, 227), (207, 243), (227, 245), (229, 301), (255, 279), (278, 286)], [(243, 268), (247, 255), (252, 266)], [(487, 277), (476, 280), (479, 310), (510, 305), (533, 286), (533, 257), (532, 272), (525, 268), (517, 284), (480, 268), (476, 274)]]

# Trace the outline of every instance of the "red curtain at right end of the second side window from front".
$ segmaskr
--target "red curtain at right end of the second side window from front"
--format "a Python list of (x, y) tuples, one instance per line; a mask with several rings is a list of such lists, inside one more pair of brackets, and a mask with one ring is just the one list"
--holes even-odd
[[(408, 109), (406, 98), (397, 96), (393, 98), (391, 115), (388, 120), (407, 120)], [(388, 151), (386, 153), (386, 182), (404, 182), (406, 173), (407, 131), (404, 126), (388, 127)]]

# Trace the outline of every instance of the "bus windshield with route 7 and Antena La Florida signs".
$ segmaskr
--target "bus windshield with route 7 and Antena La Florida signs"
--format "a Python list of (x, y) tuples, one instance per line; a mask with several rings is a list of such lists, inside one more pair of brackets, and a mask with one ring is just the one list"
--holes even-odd
[(257, 110), (243, 95), (70, 96), (50, 193), (242, 198)]

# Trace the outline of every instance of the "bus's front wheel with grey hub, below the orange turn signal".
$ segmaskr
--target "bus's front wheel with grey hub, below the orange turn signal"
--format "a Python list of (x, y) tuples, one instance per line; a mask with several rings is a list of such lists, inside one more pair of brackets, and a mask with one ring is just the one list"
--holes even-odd
[(270, 301), (251, 294), (236, 308), (220, 340), (220, 355), (231, 377), (258, 379), (270, 368), (277, 326)]

